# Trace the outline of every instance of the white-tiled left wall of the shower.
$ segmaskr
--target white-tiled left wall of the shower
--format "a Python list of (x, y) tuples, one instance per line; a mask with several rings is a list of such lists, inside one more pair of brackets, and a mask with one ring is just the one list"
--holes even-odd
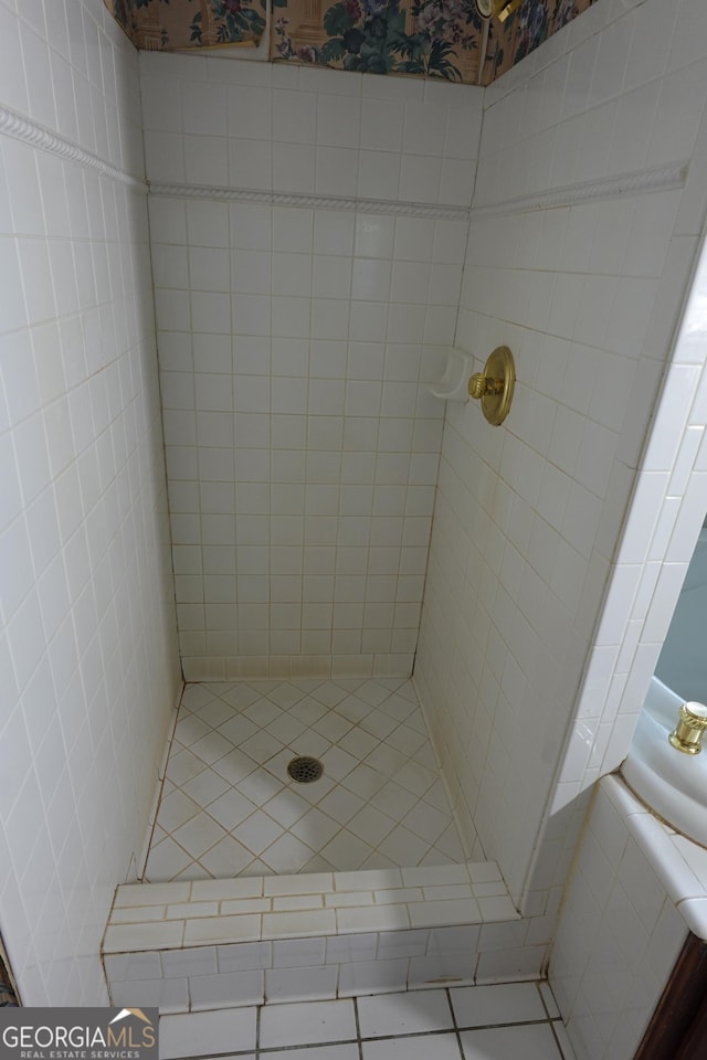
[[(60, 1006), (107, 1001), (105, 920), (137, 872), (180, 680), (137, 55), (99, 0), (64, 11), (0, 11), (0, 104), (45, 127), (0, 144), (0, 757), (22, 772), (0, 890), (23, 1003)], [(163, 989), (155, 1004), (183, 1003), (183, 979)]]

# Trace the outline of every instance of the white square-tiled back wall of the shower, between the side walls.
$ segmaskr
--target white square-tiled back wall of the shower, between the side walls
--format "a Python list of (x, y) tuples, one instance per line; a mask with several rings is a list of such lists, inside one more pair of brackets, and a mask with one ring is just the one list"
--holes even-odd
[[(188, 72), (167, 54), (140, 62), (149, 97), (148, 173), (157, 180), (167, 180), (171, 170), (172, 181), (226, 183), (221, 170), (229, 141), (234, 187), (468, 205), (471, 174), (450, 171), (440, 184), (436, 147), (434, 158), (403, 155), (403, 131), (410, 138), (424, 119), (440, 152), (473, 165), (481, 92), (462, 87), (426, 105), (405, 87), (399, 100), (377, 102), (371, 117), (362, 80), (344, 78), (344, 92), (335, 72), (307, 71), (305, 89), (296, 67), (278, 67), (278, 87), (260, 99), (263, 124), (241, 129), (243, 104), (236, 106), (233, 96), (226, 106), (224, 85), (209, 76), (218, 61)], [(182, 89), (187, 75), (189, 91)], [(182, 89), (181, 126), (165, 105), (166, 83), (177, 96)], [(197, 130), (192, 118), (204, 106), (210, 125)], [(272, 141), (265, 139), (270, 129)], [(272, 147), (273, 182), (265, 168), (245, 172), (239, 162), (234, 169), (264, 147)], [(359, 158), (361, 147), (366, 158)], [(434, 172), (426, 172), (429, 163)], [(225, 220), (225, 204), (186, 205), (187, 233), (183, 202), (155, 195), (150, 201), (184, 672), (190, 679), (268, 676), (265, 666), (283, 676), (296, 670), (324, 677), (334, 667), (339, 676), (409, 674), (424, 568), (420, 559), (414, 580), (404, 549), (414, 520), (431, 518), (433, 490), (423, 492), (422, 486), (435, 481), (444, 415), (442, 403), (420, 401), (422, 384), (439, 370), (421, 357), (421, 339), (442, 347), (454, 328), (461, 257), (458, 252), (446, 257), (450, 223), (422, 222), (413, 254), (419, 289), (398, 272), (389, 310), (399, 259), (395, 232), (404, 259), (410, 256), (404, 237), (414, 227), (410, 219), (368, 215), (363, 209), (345, 214), (238, 203), (229, 227), (215, 218), (219, 211)], [(202, 250), (211, 246), (224, 250)], [(180, 264), (187, 261), (188, 274)], [(232, 360), (225, 348), (215, 363), (207, 356), (204, 339), (217, 333), (230, 333)], [(172, 361), (169, 351), (190, 336), (191, 354)], [(253, 359), (254, 337), (264, 343), (260, 362)], [(395, 382), (381, 388), (393, 363)], [(369, 454), (366, 485), (373, 484), (378, 464), (378, 489), (397, 490), (400, 522), (391, 534), (392, 523), (381, 523), (391, 512), (379, 494), (360, 488), (358, 477), (340, 488), (344, 458), (351, 466)], [(233, 507), (212, 512), (202, 488), (187, 489), (207, 484), (229, 489), (240, 513), (263, 517), (256, 541), (244, 538), (238, 524), (234, 533)], [(282, 529), (279, 517), (289, 520)], [(257, 544), (257, 555), (247, 551), (250, 544)], [(196, 553), (183, 550), (199, 545), (204, 551), (194, 566)], [(331, 550), (326, 573), (336, 575), (328, 583), (323, 545)], [(378, 551), (367, 556), (370, 547)], [(312, 576), (315, 554), (318, 581)], [(217, 582), (222, 590), (230, 585), (218, 602), (209, 597)], [(261, 614), (254, 621), (256, 605)]]

